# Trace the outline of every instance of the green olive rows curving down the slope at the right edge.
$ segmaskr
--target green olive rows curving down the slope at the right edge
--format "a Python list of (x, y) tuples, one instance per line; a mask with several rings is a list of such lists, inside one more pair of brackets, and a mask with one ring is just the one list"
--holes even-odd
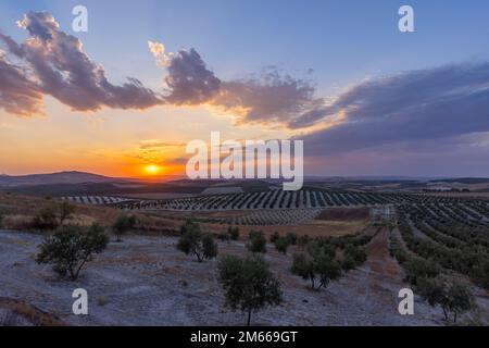
[(401, 263), (426, 261), (489, 289), (487, 201), (402, 204), (398, 227), (399, 233), (393, 231), (391, 235), (391, 248)]

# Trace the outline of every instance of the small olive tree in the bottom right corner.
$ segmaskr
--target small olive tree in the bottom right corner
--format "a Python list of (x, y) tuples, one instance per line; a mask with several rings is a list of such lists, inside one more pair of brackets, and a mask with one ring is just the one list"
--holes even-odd
[(469, 286), (453, 278), (444, 276), (418, 278), (417, 290), (429, 306), (441, 307), (447, 322), (450, 314), (453, 314), (455, 323), (459, 314), (469, 311), (475, 306)]

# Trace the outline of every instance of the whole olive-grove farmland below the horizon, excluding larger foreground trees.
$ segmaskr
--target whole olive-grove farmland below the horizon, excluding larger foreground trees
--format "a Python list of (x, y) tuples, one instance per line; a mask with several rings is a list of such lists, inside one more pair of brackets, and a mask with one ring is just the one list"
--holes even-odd
[[(99, 222), (111, 232), (122, 213), (134, 214), (138, 223), (123, 243), (111, 241), (72, 283), (34, 262), (50, 233), (36, 229), (33, 221), (40, 209), (62, 200), (0, 194), (0, 321), (3, 315), (3, 321), (18, 325), (242, 324), (242, 314), (223, 307), (216, 261), (198, 263), (175, 248), (181, 224), (192, 217), (203, 232), (215, 235), (239, 226), (238, 240), (218, 241), (220, 254), (244, 254), (252, 231), (262, 231), (267, 240), (275, 233), (371, 236), (366, 263), (319, 293), (289, 271), (293, 253), (302, 247), (291, 246), (281, 254), (268, 243), (265, 258), (283, 283), (285, 301), (258, 313), (255, 324), (443, 325), (440, 309), (418, 296), (415, 315), (398, 313), (398, 291), (411, 286), (411, 260), (434, 262), (443, 274), (469, 282), (478, 309), (460, 323), (489, 323), (489, 204), (481, 198), (336, 189), (130, 201), (117, 195), (91, 197), (97, 199), (73, 200), (76, 209), (70, 223)], [(372, 208), (379, 207), (393, 207), (393, 220), (373, 217)], [(88, 316), (71, 314), (75, 287), (90, 290)]]

